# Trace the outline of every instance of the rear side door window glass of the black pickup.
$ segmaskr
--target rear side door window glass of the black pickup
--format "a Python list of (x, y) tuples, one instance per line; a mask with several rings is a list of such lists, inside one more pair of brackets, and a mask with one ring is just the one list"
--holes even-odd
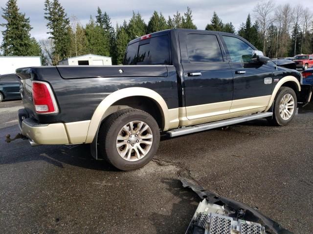
[(221, 47), (215, 35), (188, 34), (187, 53), (190, 62), (223, 62)]

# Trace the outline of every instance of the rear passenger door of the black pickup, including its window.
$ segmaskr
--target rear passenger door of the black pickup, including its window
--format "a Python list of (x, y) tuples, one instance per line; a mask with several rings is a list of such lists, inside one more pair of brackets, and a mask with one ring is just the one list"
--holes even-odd
[(218, 34), (180, 32), (186, 117), (191, 123), (220, 118), (230, 112), (233, 77)]

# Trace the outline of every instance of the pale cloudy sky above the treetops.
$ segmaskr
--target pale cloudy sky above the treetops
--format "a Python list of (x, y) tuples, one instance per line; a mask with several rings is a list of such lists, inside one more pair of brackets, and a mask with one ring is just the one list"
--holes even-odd
[[(4, 7), (6, 1), (0, 0), (0, 6)], [(90, 15), (93, 17), (96, 15), (98, 6), (102, 12), (106, 11), (109, 14), (114, 27), (116, 23), (121, 24), (124, 19), (129, 20), (133, 10), (139, 11), (147, 23), (154, 10), (162, 12), (167, 19), (176, 11), (183, 14), (189, 6), (198, 29), (204, 29), (212, 18), (213, 12), (216, 11), (224, 23), (232, 22), (237, 30), (240, 24), (246, 21), (248, 13), (251, 14), (252, 19), (254, 18), (253, 8), (257, 0), (60, 0), (60, 2), (65, 8), (67, 16), (75, 15), (82, 24), (89, 21)], [(313, 11), (313, 0), (274, 0), (274, 2), (276, 6), (288, 2), (293, 6), (299, 2)], [(48, 37), (44, 20), (44, 0), (17, 0), (17, 3), (20, 11), (30, 18), (33, 27), (32, 36), (36, 39)], [(0, 17), (0, 23), (4, 22)], [(3, 28), (0, 27), (0, 30), (2, 31)]]

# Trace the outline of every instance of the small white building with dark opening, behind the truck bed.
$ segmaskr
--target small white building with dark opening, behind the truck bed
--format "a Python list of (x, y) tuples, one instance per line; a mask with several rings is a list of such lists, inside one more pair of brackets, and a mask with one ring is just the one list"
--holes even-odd
[(59, 65), (112, 65), (112, 59), (100, 55), (82, 55), (61, 60)]

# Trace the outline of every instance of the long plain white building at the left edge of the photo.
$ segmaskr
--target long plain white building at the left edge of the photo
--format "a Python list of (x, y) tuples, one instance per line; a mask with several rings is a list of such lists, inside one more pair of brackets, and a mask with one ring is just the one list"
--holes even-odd
[(40, 56), (0, 56), (0, 75), (15, 73), (17, 68), (41, 66)]

